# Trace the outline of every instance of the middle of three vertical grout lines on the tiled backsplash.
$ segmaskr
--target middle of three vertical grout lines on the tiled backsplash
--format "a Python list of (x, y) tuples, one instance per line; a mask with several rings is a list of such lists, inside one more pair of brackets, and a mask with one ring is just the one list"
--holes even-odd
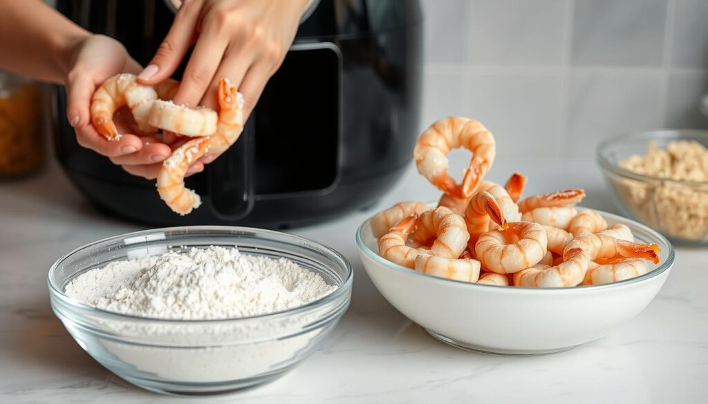
[(556, 156), (569, 154), (568, 136), (570, 129), (570, 100), (571, 100), (571, 52), (573, 50), (573, 18), (575, 13), (575, 0), (566, 2), (565, 22), (563, 25), (563, 49), (561, 50), (561, 108), (558, 122), (557, 139), (559, 148)]

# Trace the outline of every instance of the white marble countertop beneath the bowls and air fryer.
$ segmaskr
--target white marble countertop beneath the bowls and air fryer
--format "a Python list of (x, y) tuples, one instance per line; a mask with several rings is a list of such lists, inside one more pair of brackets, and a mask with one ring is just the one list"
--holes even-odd
[[(593, 161), (498, 160), (490, 178), (503, 181), (513, 170), (529, 176), (528, 192), (584, 187), (584, 205), (615, 211)], [(377, 208), (435, 194), (411, 167)], [(341, 251), (354, 267), (352, 305), (341, 323), (319, 352), (278, 381), (236, 395), (178, 399), (142, 391), (93, 361), (47, 296), (47, 270), (59, 255), (144, 227), (97, 212), (55, 166), (0, 183), (0, 208), (0, 403), (708, 402), (706, 249), (678, 248), (656, 299), (610, 335), (569, 352), (501, 357), (433, 340), (378, 294), (354, 242), (371, 212), (295, 229)]]

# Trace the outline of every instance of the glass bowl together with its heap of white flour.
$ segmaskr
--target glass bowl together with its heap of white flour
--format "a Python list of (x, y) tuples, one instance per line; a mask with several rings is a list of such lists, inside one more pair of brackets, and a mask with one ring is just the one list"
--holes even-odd
[(52, 308), (122, 379), (172, 394), (257, 386), (297, 367), (349, 306), (335, 250), (277, 231), (186, 226), (105, 238), (50, 268)]

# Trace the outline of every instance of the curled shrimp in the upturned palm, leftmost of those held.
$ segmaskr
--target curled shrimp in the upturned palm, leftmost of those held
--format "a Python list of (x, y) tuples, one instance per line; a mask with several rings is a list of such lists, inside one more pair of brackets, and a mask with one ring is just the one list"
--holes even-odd
[(101, 84), (91, 98), (91, 122), (98, 133), (108, 140), (120, 139), (113, 114), (127, 105), (141, 130), (150, 129), (147, 118), (157, 93), (152, 86), (137, 82), (135, 74), (118, 74)]

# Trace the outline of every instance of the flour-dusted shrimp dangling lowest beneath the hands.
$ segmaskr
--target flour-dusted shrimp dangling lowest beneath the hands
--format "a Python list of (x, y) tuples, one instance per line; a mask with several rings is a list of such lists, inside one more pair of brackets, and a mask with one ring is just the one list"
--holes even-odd
[(157, 174), (157, 192), (174, 212), (185, 215), (202, 203), (199, 195), (184, 186), (189, 166), (204, 156), (210, 146), (208, 137), (192, 139), (173, 151)]

